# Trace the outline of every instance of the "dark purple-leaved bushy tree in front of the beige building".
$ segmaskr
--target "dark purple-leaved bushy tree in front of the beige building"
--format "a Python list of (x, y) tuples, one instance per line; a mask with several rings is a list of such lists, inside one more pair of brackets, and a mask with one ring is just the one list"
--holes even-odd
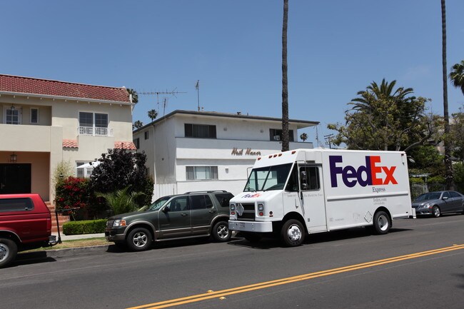
[(131, 186), (131, 192), (144, 193), (139, 206), (151, 203), (153, 180), (145, 166), (145, 153), (134, 153), (126, 149), (109, 149), (99, 158), (101, 164), (91, 173), (91, 188), (94, 192), (110, 193)]

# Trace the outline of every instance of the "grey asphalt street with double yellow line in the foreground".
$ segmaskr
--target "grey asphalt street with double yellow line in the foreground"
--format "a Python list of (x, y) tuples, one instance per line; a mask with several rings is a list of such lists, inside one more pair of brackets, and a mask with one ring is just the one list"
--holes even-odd
[[(209, 292), (208, 292), (209, 290)], [(464, 216), (311, 235), (176, 241), (23, 256), (0, 270), (0, 308), (464, 308)]]

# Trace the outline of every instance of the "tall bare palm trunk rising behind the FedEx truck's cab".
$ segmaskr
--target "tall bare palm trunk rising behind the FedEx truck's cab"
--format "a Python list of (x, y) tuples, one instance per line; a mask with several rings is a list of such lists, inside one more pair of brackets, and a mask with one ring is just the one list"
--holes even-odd
[(287, 77), (287, 25), (288, 0), (283, 0), (282, 23), (282, 151), (288, 151), (288, 77)]

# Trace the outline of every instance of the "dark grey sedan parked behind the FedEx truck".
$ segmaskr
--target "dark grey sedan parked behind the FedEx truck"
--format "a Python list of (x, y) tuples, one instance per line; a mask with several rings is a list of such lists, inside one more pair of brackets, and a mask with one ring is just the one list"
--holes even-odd
[(438, 218), (442, 213), (463, 213), (464, 196), (455, 191), (424, 193), (413, 201), (417, 215), (432, 215)]

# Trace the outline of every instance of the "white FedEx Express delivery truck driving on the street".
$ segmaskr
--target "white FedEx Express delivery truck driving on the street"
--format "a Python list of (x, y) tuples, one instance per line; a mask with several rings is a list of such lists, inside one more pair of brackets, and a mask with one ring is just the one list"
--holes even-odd
[(306, 233), (357, 226), (385, 234), (394, 219), (415, 218), (400, 151), (297, 149), (260, 156), (230, 208), (231, 230), (250, 241), (273, 233), (289, 246), (301, 245)]

